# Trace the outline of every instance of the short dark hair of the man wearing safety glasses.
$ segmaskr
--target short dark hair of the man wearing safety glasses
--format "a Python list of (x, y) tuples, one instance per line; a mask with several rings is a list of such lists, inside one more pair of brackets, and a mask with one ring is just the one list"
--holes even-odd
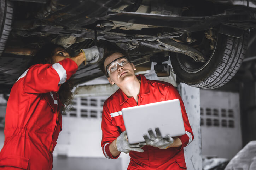
[(131, 62), (129, 55), (125, 50), (121, 49), (120, 47), (118, 47), (115, 44), (106, 44), (106, 45), (104, 45), (104, 55), (103, 55), (103, 58), (101, 59), (101, 61), (99, 62), (99, 68), (105, 74), (105, 76), (107, 76), (107, 77), (109, 77), (109, 75), (107, 74), (106, 68), (104, 67), (104, 62), (105, 62), (107, 57), (109, 57), (112, 54), (117, 53), (117, 52), (126, 56), (128, 61)]

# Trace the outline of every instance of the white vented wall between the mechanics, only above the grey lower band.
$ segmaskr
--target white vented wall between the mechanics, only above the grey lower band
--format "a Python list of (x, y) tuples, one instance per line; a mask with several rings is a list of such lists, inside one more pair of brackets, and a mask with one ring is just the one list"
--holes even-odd
[(101, 112), (107, 96), (78, 97), (62, 115), (63, 130), (53, 155), (105, 157), (101, 150)]

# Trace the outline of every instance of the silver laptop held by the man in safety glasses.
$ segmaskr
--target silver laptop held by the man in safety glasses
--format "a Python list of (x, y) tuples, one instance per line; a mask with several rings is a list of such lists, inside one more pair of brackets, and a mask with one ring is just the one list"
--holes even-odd
[(163, 138), (185, 134), (179, 99), (127, 107), (121, 111), (130, 144), (145, 142), (143, 134), (149, 136), (149, 129), (156, 136), (156, 127), (159, 127)]

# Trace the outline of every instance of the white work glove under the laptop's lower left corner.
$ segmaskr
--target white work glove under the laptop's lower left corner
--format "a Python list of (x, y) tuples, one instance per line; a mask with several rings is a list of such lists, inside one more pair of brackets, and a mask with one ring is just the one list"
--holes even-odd
[(117, 138), (116, 138), (116, 148), (119, 152), (129, 153), (130, 151), (136, 152), (144, 152), (141, 148), (142, 146), (146, 145), (146, 143), (141, 143), (141, 146), (138, 144), (129, 144), (127, 140), (126, 131), (123, 131)]

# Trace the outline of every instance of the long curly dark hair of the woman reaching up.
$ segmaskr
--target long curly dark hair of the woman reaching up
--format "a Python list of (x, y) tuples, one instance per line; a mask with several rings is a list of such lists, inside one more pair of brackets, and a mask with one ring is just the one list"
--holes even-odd
[[(42, 46), (42, 48), (39, 49), (37, 53), (34, 55), (32, 61), (29, 64), (29, 67), (35, 64), (54, 64), (52, 56), (54, 55), (56, 48), (65, 49), (63, 46), (53, 43), (48, 43)], [(60, 86), (58, 92), (59, 98), (65, 106), (68, 106), (73, 99), (73, 93), (71, 92), (73, 88), (74, 76), (72, 76), (69, 80), (67, 80)]]

